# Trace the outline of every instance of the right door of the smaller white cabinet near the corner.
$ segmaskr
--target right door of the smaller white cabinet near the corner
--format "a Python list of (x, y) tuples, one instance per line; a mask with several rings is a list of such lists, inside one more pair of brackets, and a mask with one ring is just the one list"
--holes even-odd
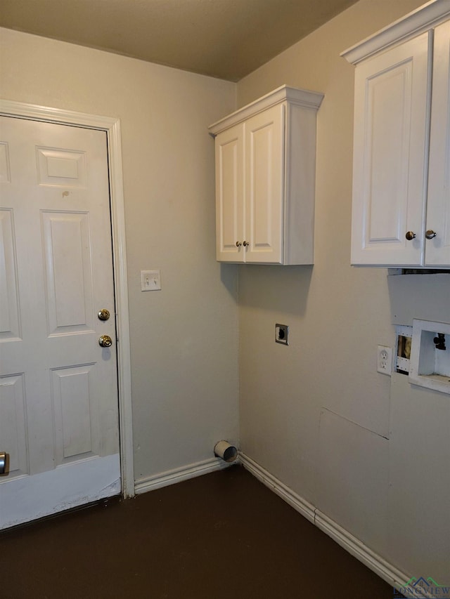
[(283, 262), (284, 105), (245, 123), (245, 261)]

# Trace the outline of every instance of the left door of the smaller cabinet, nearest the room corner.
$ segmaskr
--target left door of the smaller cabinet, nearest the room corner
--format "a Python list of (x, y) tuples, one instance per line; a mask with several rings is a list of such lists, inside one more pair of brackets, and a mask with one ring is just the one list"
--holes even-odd
[[(219, 133), (216, 145), (216, 256), (242, 262), (244, 240), (243, 125)], [(236, 244), (241, 244), (236, 246)]]

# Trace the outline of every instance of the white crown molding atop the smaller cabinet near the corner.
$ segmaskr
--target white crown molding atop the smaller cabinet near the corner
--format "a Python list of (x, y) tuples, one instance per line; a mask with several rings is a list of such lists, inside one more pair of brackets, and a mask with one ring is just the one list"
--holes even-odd
[(208, 127), (208, 129), (210, 130), (212, 136), (217, 136), (217, 133), (220, 133), (225, 129), (229, 129), (229, 127), (245, 121), (245, 119), (248, 119), (248, 117), (252, 116), (253, 114), (262, 112), (262, 110), (266, 110), (271, 106), (280, 104), (285, 100), (293, 104), (318, 110), (323, 100), (323, 93), (282, 85), (276, 88), (274, 91), (266, 93), (266, 95), (262, 96), (262, 98), (258, 98), (254, 102), (243, 106), (239, 110), (236, 110), (236, 112), (232, 112), (224, 119), (220, 119), (220, 121), (213, 123)]

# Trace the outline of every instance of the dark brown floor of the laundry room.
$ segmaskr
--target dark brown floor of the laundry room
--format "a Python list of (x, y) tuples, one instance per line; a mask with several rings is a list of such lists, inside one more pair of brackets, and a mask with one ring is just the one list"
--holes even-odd
[(392, 599), (240, 466), (0, 534), (1, 599)]

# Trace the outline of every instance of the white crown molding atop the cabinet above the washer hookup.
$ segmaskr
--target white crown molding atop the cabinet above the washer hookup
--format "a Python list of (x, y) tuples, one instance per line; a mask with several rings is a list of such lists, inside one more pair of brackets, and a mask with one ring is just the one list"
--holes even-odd
[(431, 0), (405, 17), (387, 25), (379, 32), (367, 37), (341, 53), (352, 65), (369, 56), (389, 48), (400, 41), (416, 37), (435, 25), (450, 18), (450, 0)]

